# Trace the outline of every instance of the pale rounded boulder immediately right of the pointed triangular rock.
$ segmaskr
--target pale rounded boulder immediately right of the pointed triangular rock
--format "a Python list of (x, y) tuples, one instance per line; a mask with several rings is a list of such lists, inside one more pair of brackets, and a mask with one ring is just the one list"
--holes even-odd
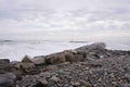
[(41, 64), (46, 64), (46, 60), (44, 57), (35, 57), (34, 59), (31, 59), (32, 63), (36, 65), (41, 65)]

